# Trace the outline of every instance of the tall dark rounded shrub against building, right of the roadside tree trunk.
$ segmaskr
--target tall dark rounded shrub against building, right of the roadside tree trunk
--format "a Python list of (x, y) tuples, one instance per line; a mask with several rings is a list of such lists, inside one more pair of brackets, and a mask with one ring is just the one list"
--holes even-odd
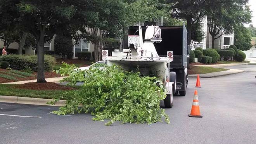
[(73, 41), (71, 36), (57, 34), (54, 39), (54, 51), (55, 54), (61, 55), (62, 58), (65, 58), (65, 55), (69, 55), (70, 58), (70, 53), (73, 51)]

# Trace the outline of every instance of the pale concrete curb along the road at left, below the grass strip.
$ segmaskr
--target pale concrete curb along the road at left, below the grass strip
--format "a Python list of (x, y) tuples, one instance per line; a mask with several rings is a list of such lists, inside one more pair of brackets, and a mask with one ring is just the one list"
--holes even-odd
[(4, 103), (20, 103), (20, 104), (29, 104), (29, 105), (43, 105), (43, 106), (64, 106), (65, 100), (59, 100), (55, 105), (46, 104), (52, 99), (43, 99), (43, 98), (27, 98), (19, 96), (0, 96), (0, 102)]

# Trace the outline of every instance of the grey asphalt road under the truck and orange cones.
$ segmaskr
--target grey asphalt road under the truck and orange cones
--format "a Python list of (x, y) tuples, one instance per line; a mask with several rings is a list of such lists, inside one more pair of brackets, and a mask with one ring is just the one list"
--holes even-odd
[[(255, 144), (255, 75), (249, 71), (202, 78), (201, 88), (194, 87), (196, 79), (189, 79), (187, 95), (176, 96), (173, 108), (166, 109), (170, 125), (104, 126), (88, 114), (48, 114), (58, 109), (54, 106), (0, 103), (0, 144)], [(187, 115), (195, 89), (202, 118)]]

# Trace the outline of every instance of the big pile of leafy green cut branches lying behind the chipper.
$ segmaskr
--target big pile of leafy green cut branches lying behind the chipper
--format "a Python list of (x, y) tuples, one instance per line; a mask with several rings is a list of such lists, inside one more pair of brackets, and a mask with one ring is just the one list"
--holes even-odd
[(54, 99), (52, 104), (60, 98), (67, 100), (65, 106), (53, 113), (65, 115), (83, 111), (90, 113), (93, 110), (91, 114), (95, 117), (92, 120), (110, 119), (105, 125), (111, 125), (115, 121), (150, 124), (161, 122), (162, 117), (166, 123), (170, 123), (168, 115), (160, 109), (160, 101), (166, 94), (163, 83), (156, 77), (142, 77), (139, 73), (125, 72), (116, 65), (102, 66), (102, 70), (91, 67), (86, 71), (74, 70), (74, 65), (64, 65), (65, 68), (56, 71), (62, 75), (70, 74), (63, 81), (71, 81), (69, 84), (73, 85), (78, 80), (85, 83), (81, 90), (67, 91)]

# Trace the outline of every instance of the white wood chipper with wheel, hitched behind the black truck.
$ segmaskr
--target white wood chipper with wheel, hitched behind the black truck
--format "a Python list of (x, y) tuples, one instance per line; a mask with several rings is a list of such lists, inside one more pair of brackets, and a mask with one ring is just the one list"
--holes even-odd
[(173, 106), (173, 95), (176, 91), (176, 73), (170, 72), (169, 65), (173, 61), (173, 51), (167, 51), (167, 57), (159, 57), (154, 43), (160, 43), (161, 29), (158, 26), (147, 26), (145, 37), (142, 38), (142, 28), (138, 26), (139, 35), (128, 36), (129, 49), (122, 52), (115, 50), (112, 56), (107, 56), (108, 51), (102, 51), (102, 59), (106, 64), (121, 66), (124, 70), (140, 71), (142, 75), (159, 77), (166, 88), (164, 105), (166, 108)]

